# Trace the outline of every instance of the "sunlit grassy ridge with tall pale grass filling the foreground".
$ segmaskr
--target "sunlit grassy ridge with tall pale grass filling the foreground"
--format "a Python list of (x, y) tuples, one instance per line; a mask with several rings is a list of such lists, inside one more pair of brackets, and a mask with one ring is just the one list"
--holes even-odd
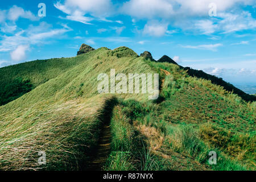
[[(19, 77), (32, 84), (30, 92), (0, 106), (0, 169), (88, 169), (104, 123), (111, 143), (102, 169), (255, 169), (255, 102), (125, 47), (41, 62), (0, 69), (11, 74), (9, 82)], [(110, 69), (159, 73), (159, 99), (98, 94), (97, 76)], [(46, 165), (38, 164), (38, 151), (46, 152)], [(216, 165), (209, 165), (209, 151), (217, 152)]]

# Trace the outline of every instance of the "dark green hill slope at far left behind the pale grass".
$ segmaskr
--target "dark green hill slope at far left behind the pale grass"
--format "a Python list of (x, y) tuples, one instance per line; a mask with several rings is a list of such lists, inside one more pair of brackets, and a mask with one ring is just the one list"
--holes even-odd
[(0, 106), (79, 65), (84, 56), (36, 60), (0, 68)]

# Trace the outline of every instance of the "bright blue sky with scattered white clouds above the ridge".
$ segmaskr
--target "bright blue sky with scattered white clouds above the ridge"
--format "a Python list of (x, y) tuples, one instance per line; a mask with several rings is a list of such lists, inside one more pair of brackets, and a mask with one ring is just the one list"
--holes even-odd
[(126, 46), (255, 90), (255, 10), (256, 0), (1, 1), (0, 67), (76, 56), (82, 43)]

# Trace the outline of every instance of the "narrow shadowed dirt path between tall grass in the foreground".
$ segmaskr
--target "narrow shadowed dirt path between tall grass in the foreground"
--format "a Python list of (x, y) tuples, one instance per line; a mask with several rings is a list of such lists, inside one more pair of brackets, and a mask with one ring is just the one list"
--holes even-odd
[(94, 159), (90, 164), (90, 170), (92, 171), (101, 171), (104, 166), (106, 159), (108, 159), (108, 155), (110, 152), (110, 126), (109, 124), (105, 124), (102, 127), (100, 139), (98, 142), (98, 147), (96, 153), (94, 154)]

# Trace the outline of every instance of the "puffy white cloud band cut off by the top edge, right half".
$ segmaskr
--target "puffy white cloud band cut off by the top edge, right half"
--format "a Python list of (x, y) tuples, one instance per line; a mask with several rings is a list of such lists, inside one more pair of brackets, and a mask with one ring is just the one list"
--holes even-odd
[(148, 19), (208, 16), (210, 3), (215, 3), (217, 11), (223, 12), (239, 5), (254, 5), (255, 0), (130, 0), (123, 3), (122, 11)]

